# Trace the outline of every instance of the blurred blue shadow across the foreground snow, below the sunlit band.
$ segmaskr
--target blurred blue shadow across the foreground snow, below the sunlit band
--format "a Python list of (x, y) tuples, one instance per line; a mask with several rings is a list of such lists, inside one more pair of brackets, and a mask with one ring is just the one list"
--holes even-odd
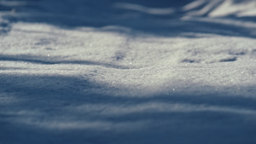
[(256, 141), (253, 98), (114, 95), (110, 85), (62, 75), (1, 74), (0, 81), (1, 143)]

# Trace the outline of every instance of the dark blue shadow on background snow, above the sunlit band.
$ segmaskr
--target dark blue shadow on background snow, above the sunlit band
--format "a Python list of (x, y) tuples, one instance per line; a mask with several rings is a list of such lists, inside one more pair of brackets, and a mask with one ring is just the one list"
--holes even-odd
[[(208, 33), (233, 37), (255, 38), (256, 36), (255, 28), (247, 26), (227, 25), (219, 22), (212, 23), (196, 19), (181, 19), (189, 13), (189, 11), (183, 11), (182, 7), (185, 4), (192, 2), (191, 0), (178, 2), (166, 0), (161, 0), (160, 2), (145, 0), (65, 0), (61, 1), (61, 4), (59, 1), (48, 0), (20, 2), (25, 2), (25, 4), (17, 4), (13, 6), (2, 5), (4, 8), (3, 10), (15, 9), (17, 11), (17, 14), (7, 14), (5, 16), (7, 20), (12, 22), (42, 22), (61, 26), (62, 28), (74, 28), (78, 26), (122, 26), (128, 27), (135, 32), (166, 37), (191, 37), (183, 35), (183, 33), (186, 32)], [(241, 1), (236, 1), (236, 3), (240, 2)], [(205, 15), (201, 15), (201, 17), (207, 17), (207, 14), (213, 9), (216, 9), (218, 4), (221, 3), (216, 4), (215, 7), (206, 12)], [(170, 10), (169, 13), (168, 10)], [(227, 15), (226, 18), (231, 20), (244, 20), (242, 19), (243, 17), (238, 18), (232, 14)], [(251, 19), (253, 19), (253, 17)]]

